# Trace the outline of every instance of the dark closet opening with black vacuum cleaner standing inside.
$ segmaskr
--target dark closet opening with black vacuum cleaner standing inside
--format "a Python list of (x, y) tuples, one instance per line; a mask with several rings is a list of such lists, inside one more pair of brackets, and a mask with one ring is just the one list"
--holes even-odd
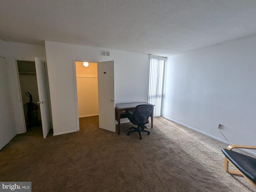
[(17, 69), (26, 131), (33, 131), (42, 127), (35, 62), (17, 61)]

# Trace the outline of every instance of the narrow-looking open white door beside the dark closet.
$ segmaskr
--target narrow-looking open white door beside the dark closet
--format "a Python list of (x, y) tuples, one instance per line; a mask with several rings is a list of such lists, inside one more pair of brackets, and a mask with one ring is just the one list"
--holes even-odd
[(47, 86), (46, 86), (46, 74), (45, 74), (44, 61), (41, 61), (40, 59), (35, 57), (35, 64), (36, 64), (36, 79), (37, 79), (38, 94), (39, 94), (38, 103), (40, 104), (43, 135), (45, 139), (51, 129), (48, 92), (47, 92)]

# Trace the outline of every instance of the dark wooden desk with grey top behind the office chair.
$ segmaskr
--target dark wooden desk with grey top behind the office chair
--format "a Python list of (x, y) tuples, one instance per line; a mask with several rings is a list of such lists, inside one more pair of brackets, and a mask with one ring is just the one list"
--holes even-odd
[[(128, 118), (128, 110), (134, 112), (137, 105), (150, 104), (146, 102), (137, 102), (137, 103), (122, 103), (116, 104), (116, 120), (118, 122), (118, 135), (120, 134), (120, 119)], [(150, 104), (152, 105), (152, 104)], [(154, 105), (152, 112), (150, 114), (151, 117), (151, 127), (153, 127), (153, 115), (154, 115)]]

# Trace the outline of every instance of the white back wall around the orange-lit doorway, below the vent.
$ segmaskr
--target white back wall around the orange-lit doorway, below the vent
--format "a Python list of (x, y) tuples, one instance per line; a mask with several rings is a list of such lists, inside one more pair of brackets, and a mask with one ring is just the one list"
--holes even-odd
[(74, 72), (72, 60), (115, 61), (116, 103), (148, 100), (147, 54), (110, 50), (100, 57), (100, 48), (45, 41), (54, 135), (76, 131)]

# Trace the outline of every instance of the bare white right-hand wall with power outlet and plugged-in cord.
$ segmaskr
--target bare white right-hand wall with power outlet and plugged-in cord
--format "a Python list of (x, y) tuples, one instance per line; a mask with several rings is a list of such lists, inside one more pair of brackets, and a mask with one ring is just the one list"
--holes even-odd
[(168, 57), (163, 116), (256, 145), (256, 35)]

